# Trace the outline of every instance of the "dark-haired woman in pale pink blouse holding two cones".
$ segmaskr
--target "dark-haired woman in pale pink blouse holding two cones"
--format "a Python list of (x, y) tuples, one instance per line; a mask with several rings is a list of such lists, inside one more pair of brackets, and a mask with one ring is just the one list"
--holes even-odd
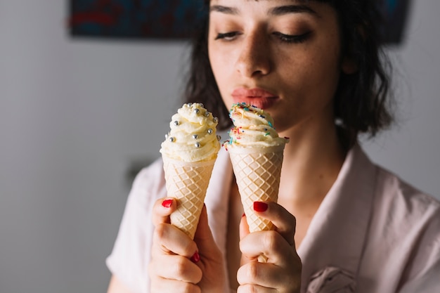
[(290, 137), (278, 204), (254, 204), (276, 230), (249, 233), (221, 152), (190, 240), (157, 161), (131, 191), (108, 292), (440, 292), (439, 202), (356, 143), (392, 121), (371, 2), (209, 1), (187, 100), (224, 129), (233, 103), (257, 105)]

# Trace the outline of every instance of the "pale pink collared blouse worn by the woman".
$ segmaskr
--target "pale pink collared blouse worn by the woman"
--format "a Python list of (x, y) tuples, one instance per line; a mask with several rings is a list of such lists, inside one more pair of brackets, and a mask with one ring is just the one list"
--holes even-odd
[[(205, 203), (224, 255), (231, 178), (228, 153), (221, 150)], [(166, 195), (158, 159), (136, 177), (107, 259), (113, 275), (134, 293), (150, 293), (151, 209)], [(302, 293), (439, 293), (440, 202), (377, 167), (355, 145), (298, 254)], [(224, 292), (231, 292), (227, 283)]]

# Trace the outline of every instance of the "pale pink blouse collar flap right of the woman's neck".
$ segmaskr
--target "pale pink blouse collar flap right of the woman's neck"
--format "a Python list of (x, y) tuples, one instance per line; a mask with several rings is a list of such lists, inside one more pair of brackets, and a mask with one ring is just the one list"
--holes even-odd
[(370, 222), (375, 173), (375, 166), (354, 145), (298, 249), (304, 286), (313, 273), (330, 266), (356, 275)]

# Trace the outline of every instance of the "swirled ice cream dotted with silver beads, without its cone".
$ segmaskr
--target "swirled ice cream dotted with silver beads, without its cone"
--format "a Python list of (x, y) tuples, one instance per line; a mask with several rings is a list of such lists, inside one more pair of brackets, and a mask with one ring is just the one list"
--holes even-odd
[(219, 119), (212, 116), (203, 104), (187, 103), (173, 115), (171, 130), (161, 145), (160, 152), (183, 162), (216, 159), (220, 149), (216, 126)]

